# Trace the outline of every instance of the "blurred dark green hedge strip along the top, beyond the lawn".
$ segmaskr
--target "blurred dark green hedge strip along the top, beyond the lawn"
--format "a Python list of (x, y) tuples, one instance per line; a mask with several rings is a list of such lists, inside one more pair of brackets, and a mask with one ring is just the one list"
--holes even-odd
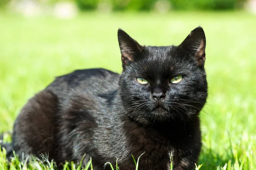
[[(25, 0), (0, 0), (0, 6)], [(26, 0), (33, 2), (33, 0)], [(35, 1), (34, 1), (35, 2)], [(52, 5), (61, 0), (38, 0), (37, 3)], [(113, 11), (150, 11), (157, 6), (169, 6), (173, 10), (227, 10), (243, 8), (247, 0), (66, 0), (76, 3), (81, 10), (111, 8)], [(104, 5), (104, 6), (103, 6)]]

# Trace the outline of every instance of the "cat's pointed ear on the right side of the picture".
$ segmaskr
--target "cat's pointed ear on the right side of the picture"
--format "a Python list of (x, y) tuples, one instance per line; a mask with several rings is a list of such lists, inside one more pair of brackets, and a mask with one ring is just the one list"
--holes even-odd
[(203, 28), (199, 26), (191, 31), (180, 47), (192, 54), (199, 66), (204, 66), (206, 38)]

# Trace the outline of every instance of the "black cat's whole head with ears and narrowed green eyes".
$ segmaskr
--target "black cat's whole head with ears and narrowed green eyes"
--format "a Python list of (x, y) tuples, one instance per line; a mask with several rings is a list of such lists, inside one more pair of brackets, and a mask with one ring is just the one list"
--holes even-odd
[(195, 28), (178, 46), (143, 46), (122, 29), (118, 41), (119, 92), (128, 116), (142, 124), (198, 116), (207, 99), (203, 28)]

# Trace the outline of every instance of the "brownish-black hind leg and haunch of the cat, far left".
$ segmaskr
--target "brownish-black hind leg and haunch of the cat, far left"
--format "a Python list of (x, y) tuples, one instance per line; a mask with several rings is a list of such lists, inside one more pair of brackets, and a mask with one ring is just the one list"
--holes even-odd
[(12, 147), (22, 155), (49, 154), (53, 159), (55, 114), (58, 99), (50, 91), (41, 91), (29, 99), (15, 120)]

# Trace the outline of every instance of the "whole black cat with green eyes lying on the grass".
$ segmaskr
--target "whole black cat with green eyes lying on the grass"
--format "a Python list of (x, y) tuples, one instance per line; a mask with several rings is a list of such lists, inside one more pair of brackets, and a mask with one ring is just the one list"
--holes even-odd
[[(120, 170), (192, 170), (207, 99), (206, 39), (195, 28), (179, 46), (142, 46), (118, 30), (122, 74), (78, 70), (57, 77), (23, 107), (13, 129), (17, 155), (49, 153), (57, 164), (90, 157)], [(12, 151), (8, 144), (3, 144)], [(61, 166), (61, 165), (60, 165)], [(105, 167), (108, 169), (108, 167)]]

